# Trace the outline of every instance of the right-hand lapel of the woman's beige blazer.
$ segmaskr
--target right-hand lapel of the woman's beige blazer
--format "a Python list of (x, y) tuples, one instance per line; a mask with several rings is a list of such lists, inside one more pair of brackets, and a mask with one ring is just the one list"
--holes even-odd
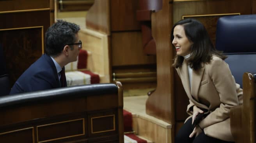
[(193, 95), (194, 98), (196, 98), (197, 101), (199, 101), (198, 90), (199, 90), (203, 75), (204, 75), (204, 65), (202, 66), (202, 68), (198, 69), (197, 71), (193, 70), (192, 72), (191, 94)]

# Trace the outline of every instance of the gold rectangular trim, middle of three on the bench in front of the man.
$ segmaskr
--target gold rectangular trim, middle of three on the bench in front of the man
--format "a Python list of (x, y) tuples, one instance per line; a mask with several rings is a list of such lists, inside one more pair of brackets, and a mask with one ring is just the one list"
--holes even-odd
[[(75, 135), (72, 135), (72, 136), (64, 136), (64, 137), (61, 137), (61, 138), (54, 138), (54, 139), (51, 139), (51, 140), (43, 140), (43, 141), (38, 140), (38, 128), (39, 127), (51, 126), (51, 125), (55, 125), (55, 124), (62, 124), (62, 123), (66, 123), (66, 122), (74, 122), (74, 121), (78, 121), (78, 120), (82, 120), (82, 123), (83, 123), (83, 133), (82, 134), (75, 134)], [(75, 136), (83, 136), (83, 135), (85, 135), (84, 118), (75, 119), (75, 120), (67, 120), (67, 121), (63, 121), (63, 122), (55, 122), (55, 123), (52, 123), (52, 124), (45, 124), (45, 125), (36, 126), (36, 135), (37, 135), (37, 143), (44, 143), (44, 142), (48, 142), (48, 141), (61, 140), (61, 139), (65, 139), (65, 138), (75, 137)]]

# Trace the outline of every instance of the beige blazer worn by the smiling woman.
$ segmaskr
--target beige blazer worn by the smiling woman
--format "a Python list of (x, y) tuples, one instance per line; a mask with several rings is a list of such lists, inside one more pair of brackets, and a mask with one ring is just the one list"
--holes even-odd
[(234, 141), (230, 130), (229, 112), (231, 107), (242, 104), (243, 91), (240, 85), (236, 84), (228, 64), (213, 56), (210, 63), (202, 64), (202, 68), (197, 71), (193, 70), (191, 88), (186, 61), (184, 60), (182, 66), (176, 70), (189, 99), (187, 113), (190, 117), (194, 105), (207, 109), (210, 114), (199, 123), (204, 133), (220, 140)]

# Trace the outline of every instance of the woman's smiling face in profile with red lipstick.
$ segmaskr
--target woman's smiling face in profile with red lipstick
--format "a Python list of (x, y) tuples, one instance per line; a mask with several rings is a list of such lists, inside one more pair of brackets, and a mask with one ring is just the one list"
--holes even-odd
[(176, 25), (173, 30), (172, 44), (175, 46), (177, 55), (186, 56), (191, 52), (191, 45), (193, 42), (188, 40), (185, 35), (184, 27), (182, 25)]

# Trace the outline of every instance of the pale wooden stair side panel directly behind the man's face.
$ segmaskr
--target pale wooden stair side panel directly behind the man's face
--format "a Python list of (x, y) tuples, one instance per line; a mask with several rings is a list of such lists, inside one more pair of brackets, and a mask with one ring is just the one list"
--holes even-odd
[(110, 82), (109, 36), (97, 31), (82, 29), (79, 31), (83, 49), (91, 52), (87, 58), (87, 68), (100, 74), (100, 83)]

